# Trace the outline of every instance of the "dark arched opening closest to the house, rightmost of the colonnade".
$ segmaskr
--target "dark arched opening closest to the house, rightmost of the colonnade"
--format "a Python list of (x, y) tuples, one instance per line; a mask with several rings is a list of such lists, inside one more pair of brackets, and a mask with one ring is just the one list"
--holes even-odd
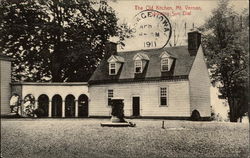
[(89, 115), (88, 96), (85, 94), (82, 94), (78, 98), (78, 116), (88, 117), (88, 115)]

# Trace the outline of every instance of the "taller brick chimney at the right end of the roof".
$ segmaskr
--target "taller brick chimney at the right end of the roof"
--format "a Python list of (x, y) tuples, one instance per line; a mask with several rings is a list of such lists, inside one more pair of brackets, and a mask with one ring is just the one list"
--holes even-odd
[(188, 51), (191, 56), (195, 56), (201, 44), (201, 33), (193, 31), (188, 33)]

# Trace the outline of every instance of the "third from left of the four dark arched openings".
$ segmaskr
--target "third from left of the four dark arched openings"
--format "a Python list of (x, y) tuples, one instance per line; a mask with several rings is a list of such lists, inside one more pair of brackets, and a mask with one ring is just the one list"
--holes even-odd
[(75, 117), (75, 97), (71, 94), (65, 99), (65, 117)]

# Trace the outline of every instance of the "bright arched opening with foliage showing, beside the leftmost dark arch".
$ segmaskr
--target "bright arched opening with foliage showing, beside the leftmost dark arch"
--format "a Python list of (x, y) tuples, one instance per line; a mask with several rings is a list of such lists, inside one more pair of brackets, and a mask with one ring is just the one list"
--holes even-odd
[(33, 110), (35, 110), (35, 97), (32, 94), (27, 94), (24, 97), (22, 115), (33, 116)]

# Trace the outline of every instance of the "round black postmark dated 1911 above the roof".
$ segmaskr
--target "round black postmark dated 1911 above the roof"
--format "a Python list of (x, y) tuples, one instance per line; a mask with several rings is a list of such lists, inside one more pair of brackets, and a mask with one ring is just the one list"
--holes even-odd
[(143, 10), (133, 18), (134, 35), (142, 49), (164, 48), (172, 35), (169, 19), (157, 10)]

